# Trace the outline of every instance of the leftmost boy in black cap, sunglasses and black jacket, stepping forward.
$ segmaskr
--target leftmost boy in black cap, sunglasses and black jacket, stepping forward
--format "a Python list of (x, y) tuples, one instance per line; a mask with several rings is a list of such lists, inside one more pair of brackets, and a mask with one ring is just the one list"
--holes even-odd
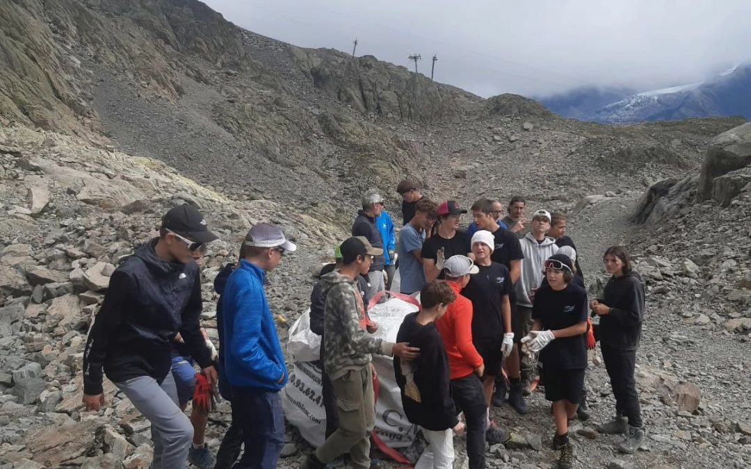
[(170, 373), (172, 340), (179, 332), (210, 385), (216, 369), (201, 335), (201, 279), (193, 252), (217, 239), (190, 205), (164, 215), (159, 237), (137, 249), (113, 272), (83, 353), (83, 403), (104, 404), (107, 377), (151, 422), (152, 466), (185, 467), (193, 437), (179, 408)]

